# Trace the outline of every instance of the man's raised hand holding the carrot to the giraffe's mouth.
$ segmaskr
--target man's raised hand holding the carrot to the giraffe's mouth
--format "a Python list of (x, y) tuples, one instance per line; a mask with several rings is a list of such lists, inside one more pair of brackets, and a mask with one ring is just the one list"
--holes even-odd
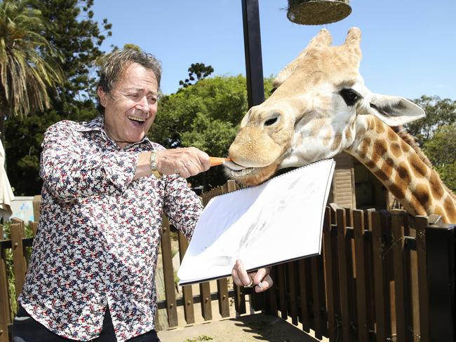
[(163, 175), (178, 174), (184, 178), (198, 175), (210, 167), (208, 153), (196, 147), (157, 151), (156, 163)]

